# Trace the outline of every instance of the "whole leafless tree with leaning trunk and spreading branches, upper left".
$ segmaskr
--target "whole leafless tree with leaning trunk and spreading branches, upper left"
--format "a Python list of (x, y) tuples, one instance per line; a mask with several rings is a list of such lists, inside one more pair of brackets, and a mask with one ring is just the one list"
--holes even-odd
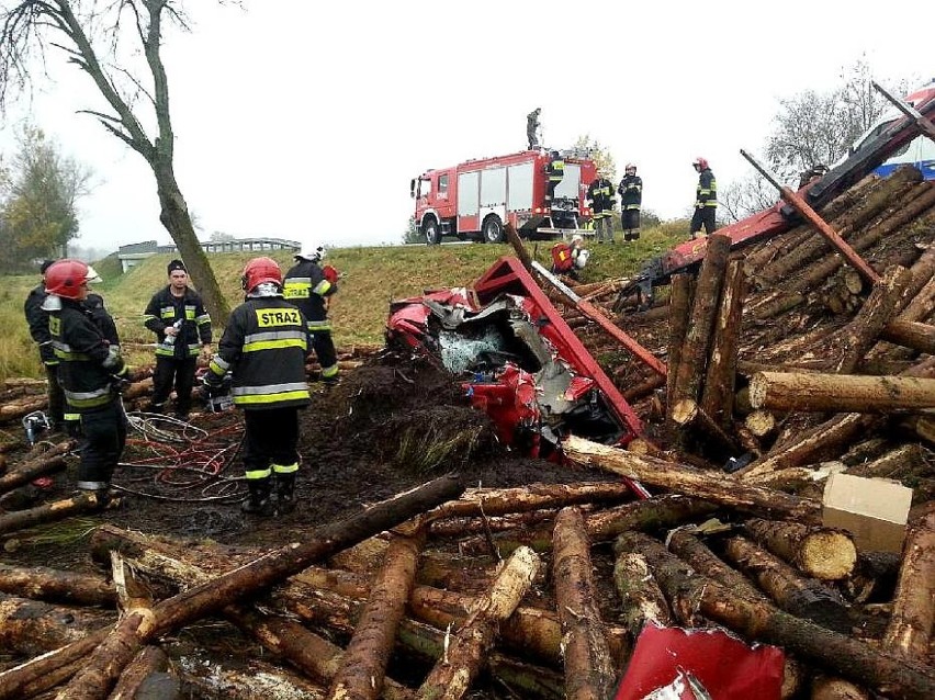
[(0, 104), (31, 82), (40, 69), (36, 60), (44, 65), (49, 49), (63, 52), (82, 70), (106, 102), (104, 109), (83, 112), (97, 117), (149, 165), (161, 207), (159, 221), (196, 280), (209, 312), (225, 325), (229, 307), (199, 244), (173, 166), (176, 138), (160, 48), (164, 21), (190, 30), (182, 5), (182, 0), (13, 3), (0, 12)]

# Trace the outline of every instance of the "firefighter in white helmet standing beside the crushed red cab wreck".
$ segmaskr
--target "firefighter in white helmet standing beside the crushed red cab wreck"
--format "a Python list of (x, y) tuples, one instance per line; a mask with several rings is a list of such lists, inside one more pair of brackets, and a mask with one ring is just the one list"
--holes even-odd
[(338, 291), (338, 275), (330, 266), (320, 267), (325, 247), (312, 244), (295, 255), (295, 264), (285, 273), (283, 294), (294, 304), (308, 321), (312, 345), (322, 365), (322, 380), (329, 384), (338, 381), (338, 354), (331, 340), (331, 321), (328, 305)]

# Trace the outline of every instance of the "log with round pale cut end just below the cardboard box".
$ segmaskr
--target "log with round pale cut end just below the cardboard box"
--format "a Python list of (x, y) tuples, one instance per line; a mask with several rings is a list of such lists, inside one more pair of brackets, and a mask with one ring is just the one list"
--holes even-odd
[(854, 539), (842, 530), (762, 518), (746, 520), (743, 527), (757, 544), (814, 578), (841, 580), (857, 564)]

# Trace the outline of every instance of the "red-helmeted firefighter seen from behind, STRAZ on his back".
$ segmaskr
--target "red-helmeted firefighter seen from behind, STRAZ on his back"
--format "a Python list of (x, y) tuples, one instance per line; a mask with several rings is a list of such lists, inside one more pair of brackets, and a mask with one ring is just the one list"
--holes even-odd
[(246, 426), (249, 496), (241, 510), (271, 516), (295, 506), (298, 408), (309, 403), (305, 358), (311, 338), (302, 312), (282, 296), (282, 271), (275, 260), (250, 260), (241, 286), (247, 296), (230, 314), (204, 384), (210, 396), (217, 396), (226, 391), (225, 374), (232, 373), (230, 393), (234, 405), (244, 410)]

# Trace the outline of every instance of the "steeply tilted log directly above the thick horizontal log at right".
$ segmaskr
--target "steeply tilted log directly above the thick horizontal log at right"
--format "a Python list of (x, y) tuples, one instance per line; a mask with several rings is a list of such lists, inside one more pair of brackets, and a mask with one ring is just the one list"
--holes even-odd
[(912, 273), (905, 268), (894, 267), (886, 271), (875, 284), (870, 296), (850, 324), (843, 328), (835, 340), (845, 349), (834, 371), (852, 374), (877, 338), (909, 302), (906, 292), (912, 283)]

